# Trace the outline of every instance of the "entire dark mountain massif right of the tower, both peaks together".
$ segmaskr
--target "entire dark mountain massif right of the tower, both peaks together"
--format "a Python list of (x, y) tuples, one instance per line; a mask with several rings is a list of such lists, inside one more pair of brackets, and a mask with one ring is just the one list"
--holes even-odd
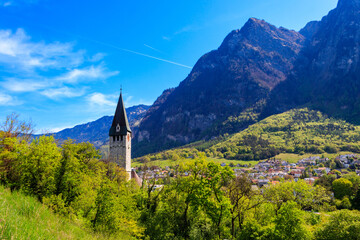
[(300, 107), (359, 124), (359, 64), (360, 0), (340, 0), (300, 32), (251, 18), (148, 112), (134, 155), (235, 133)]

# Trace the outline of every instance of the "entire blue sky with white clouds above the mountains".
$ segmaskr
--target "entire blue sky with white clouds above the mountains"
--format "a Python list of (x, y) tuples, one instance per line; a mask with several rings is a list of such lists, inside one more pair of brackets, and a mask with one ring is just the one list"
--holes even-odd
[(0, 0), (0, 121), (38, 133), (151, 105), (251, 18), (300, 30), (337, 0)]

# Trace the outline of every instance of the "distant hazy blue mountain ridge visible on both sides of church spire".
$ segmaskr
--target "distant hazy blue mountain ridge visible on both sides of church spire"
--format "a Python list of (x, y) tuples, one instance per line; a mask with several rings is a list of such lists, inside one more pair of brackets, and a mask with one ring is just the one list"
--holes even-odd
[[(146, 105), (138, 105), (126, 109), (132, 130), (136, 129), (148, 109), (149, 106)], [(67, 128), (52, 135), (60, 141), (71, 138), (75, 139), (76, 142), (90, 142), (95, 147), (100, 147), (106, 145), (109, 141), (109, 128), (112, 120), (113, 116), (104, 116), (96, 121)]]

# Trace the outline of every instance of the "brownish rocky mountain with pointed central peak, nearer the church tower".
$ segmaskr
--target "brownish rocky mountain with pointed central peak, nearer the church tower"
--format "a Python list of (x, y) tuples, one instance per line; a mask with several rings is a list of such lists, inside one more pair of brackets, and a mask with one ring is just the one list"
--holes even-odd
[(178, 87), (159, 97), (135, 131), (134, 155), (216, 136), (209, 131), (217, 124), (259, 105), (286, 79), (305, 40), (295, 31), (249, 19), (202, 56)]

